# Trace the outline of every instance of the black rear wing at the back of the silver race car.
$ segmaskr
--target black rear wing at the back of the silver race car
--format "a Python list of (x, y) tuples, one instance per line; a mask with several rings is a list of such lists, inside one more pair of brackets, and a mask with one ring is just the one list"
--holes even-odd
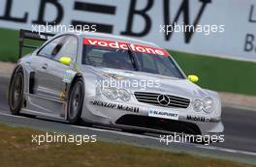
[(25, 44), (26, 39), (46, 42), (46, 41), (48, 41), (49, 38), (51, 38), (53, 36), (54, 36), (54, 34), (38, 33), (38, 32), (21, 29), (19, 31), (19, 37), (18, 37), (18, 42), (19, 42), (18, 59), (22, 57), (22, 52), (23, 52), (24, 47), (31, 48), (31, 49), (38, 48), (37, 45)]

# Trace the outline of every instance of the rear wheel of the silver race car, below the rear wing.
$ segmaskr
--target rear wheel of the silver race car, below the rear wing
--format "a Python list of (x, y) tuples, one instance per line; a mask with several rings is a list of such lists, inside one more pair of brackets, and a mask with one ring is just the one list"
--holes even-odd
[(24, 75), (22, 70), (16, 70), (11, 78), (9, 86), (8, 103), (13, 115), (19, 115), (22, 108), (24, 93)]

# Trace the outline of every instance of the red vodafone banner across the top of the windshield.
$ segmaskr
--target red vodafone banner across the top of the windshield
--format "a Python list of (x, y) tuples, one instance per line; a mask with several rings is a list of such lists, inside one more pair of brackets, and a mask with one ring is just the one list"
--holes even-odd
[(130, 49), (135, 52), (147, 53), (147, 54), (154, 54), (159, 56), (170, 56), (165, 49), (156, 48), (146, 45), (140, 44), (133, 44), (129, 42), (114, 42), (114, 41), (105, 41), (99, 39), (83, 39), (83, 44), (90, 44), (95, 46), (102, 46), (102, 47), (112, 47), (117, 49), (128, 50), (127, 44), (129, 44)]

